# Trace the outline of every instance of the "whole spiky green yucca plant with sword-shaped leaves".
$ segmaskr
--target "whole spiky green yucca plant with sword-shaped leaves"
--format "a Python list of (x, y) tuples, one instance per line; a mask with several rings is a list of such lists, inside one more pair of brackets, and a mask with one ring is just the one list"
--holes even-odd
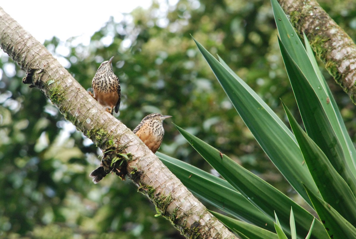
[(319, 218), (178, 126), (224, 179), (157, 155), (195, 195), (226, 212), (229, 217), (212, 213), (242, 238), (356, 238), (355, 147), (306, 36), (304, 46), (276, 0), (272, 7), (281, 54), (306, 132), (283, 104), (290, 131), (220, 57), (216, 60), (196, 43), (257, 142)]

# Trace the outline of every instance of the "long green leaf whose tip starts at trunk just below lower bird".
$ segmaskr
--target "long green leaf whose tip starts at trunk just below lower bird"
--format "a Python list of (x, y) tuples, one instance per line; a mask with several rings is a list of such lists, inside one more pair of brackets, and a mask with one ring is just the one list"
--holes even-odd
[(273, 220), (227, 183), (188, 163), (156, 153), (159, 159), (194, 195), (245, 222), (273, 230)]

